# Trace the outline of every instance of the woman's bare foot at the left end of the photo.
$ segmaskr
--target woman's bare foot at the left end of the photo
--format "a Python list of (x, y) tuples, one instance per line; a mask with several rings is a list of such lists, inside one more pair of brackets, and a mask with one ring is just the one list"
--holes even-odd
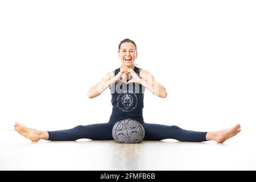
[(22, 125), (18, 122), (14, 123), (14, 129), (16, 131), (18, 131), (18, 133), (20, 135), (30, 139), (32, 142), (38, 142), (38, 140), (40, 140), (40, 131), (39, 130), (31, 129), (31, 128), (29, 128), (25, 125)]

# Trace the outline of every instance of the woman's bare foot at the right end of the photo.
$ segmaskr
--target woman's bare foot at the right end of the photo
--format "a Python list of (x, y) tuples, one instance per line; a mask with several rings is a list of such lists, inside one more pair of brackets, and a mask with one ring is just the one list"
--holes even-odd
[(214, 132), (214, 140), (217, 143), (223, 143), (227, 139), (234, 137), (241, 131), (241, 126), (240, 124), (237, 124), (234, 127), (230, 127), (230, 129), (225, 129), (225, 130), (220, 130), (220, 131), (215, 131)]

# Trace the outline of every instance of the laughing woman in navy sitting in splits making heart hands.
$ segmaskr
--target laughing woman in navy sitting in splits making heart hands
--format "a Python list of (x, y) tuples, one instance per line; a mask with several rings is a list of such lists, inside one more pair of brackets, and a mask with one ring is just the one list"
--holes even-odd
[(137, 46), (133, 40), (122, 40), (118, 46), (118, 55), (122, 61), (122, 67), (107, 73), (100, 82), (89, 89), (89, 98), (100, 96), (106, 89), (110, 89), (113, 109), (108, 123), (76, 126), (69, 130), (40, 131), (16, 122), (14, 124), (15, 130), (33, 142), (40, 139), (52, 141), (77, 140), (80, 138), (110, 140), (113, 139), (112, 128), (114, 123), (122, 119), (132, 118), (143, 125), (145, 130), (144, 140), (172, 138), (185, 142), (215, 140), (217, 143), (223, 143), (240, 133), (239, 124), (230, 129), (199, 132), (183, 130), (177, 126), (144, 123), (142, 115), (144, 89), (146, 88), (156, 96), (163, 98), (167, 96), (167, 92), (150, 72), (135, 67), (134, 60), (137, 58), (137, 54)]

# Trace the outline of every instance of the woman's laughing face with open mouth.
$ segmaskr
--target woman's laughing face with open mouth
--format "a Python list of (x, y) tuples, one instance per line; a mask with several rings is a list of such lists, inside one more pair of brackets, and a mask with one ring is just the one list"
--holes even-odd
[(118, 56), (122, 61), (122, 65), (133, 67), (134, 60), (137, 58), (137, 51), (134, 44), (130, 42), (122, 43)]

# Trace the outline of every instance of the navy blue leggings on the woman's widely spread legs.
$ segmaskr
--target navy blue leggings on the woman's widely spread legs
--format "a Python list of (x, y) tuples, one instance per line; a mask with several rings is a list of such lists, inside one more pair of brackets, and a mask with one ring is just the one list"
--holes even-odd
[[(177, 126), (166, 126), (151, 123), (142, 124), (145, 130), (144, 140), (176, 139), (183, 142), (204, 142), (207, 132), (183, 130)], [(112, 140), (114, 122), (86, 126), (76, 126), (69, 130), (48, 131), (51, 141), (77, 140), (88, 138), (93, 140)]]

